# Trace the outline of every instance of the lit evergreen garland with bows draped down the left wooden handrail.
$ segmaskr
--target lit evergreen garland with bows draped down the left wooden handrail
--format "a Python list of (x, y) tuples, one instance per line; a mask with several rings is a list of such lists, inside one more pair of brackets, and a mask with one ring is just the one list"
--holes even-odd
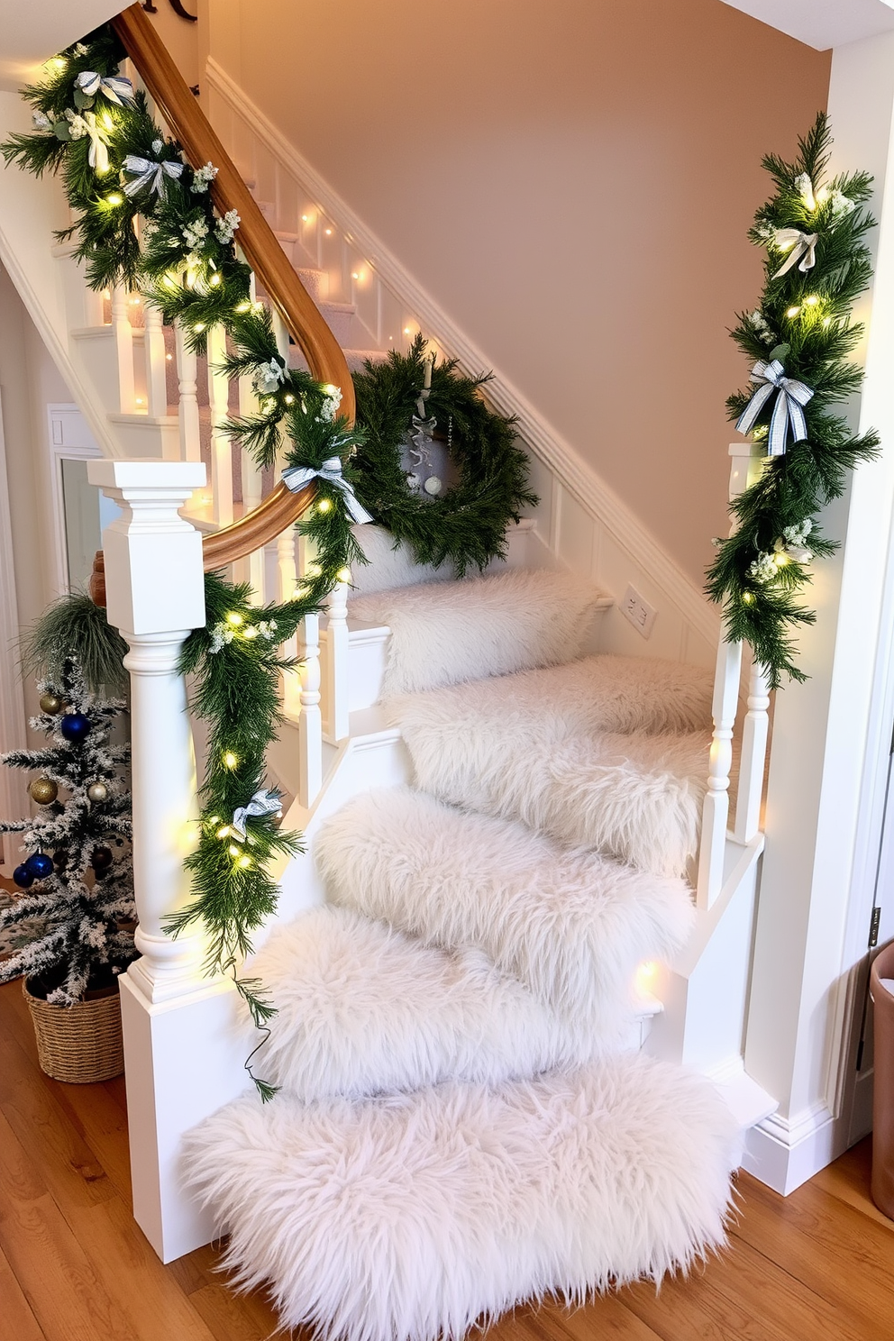
[[(287, 366), (269, 312), (251, 298), (251, 271), (236, 255), (239, 216), (229, 211), (221, 217), (213, 208), (209, 185), (217, 169), (184, 160), (180, 145), (153, 121), (145, 95), (118, 75), (123, 56), (105, 25), (50, 60), (43, 82), (23, 90), (34, 107), (34, 131), (11, 135), (0, 152), (38, 177), (60, 174), (75, 221), (58, 237), (76, 240), (92, 288), (138, 288), (165, 322), (182, 323), (198, 354), (206, 353), (208, 329), (224, 327), (224, 371), (252, 378), (259, 410), (221, 428), (259, 465), (281, 459), (284, 476), (296, 476), (292, 487), (315, 479), (315, 503), (299, 530), (316, 558), (295, 598), (259, 610), (249, 605), (248, 587), (208, 574), (208, 622), (182, 653), (184, 672), (197, 677), (194, 708), (210, 723), (212, 747), (198, 845), (188, 862), (193, 898), (169, 929), (178, 935), (204, 925), (208, 971), (233, 975), (263, 1027), (272, 1008), (256, 982), (237, 976), (237, 963), (251, 951), (251, 932), (275, 907), (271, 858), (298, 850), (298, 835), (276, 829), (279, 799), (273, 805), (264, 787), (264, 756), (280, 721), (276, 680), (291, 664), (279, 645), (307, 614), (322, 610), (336, 583), (350, 581), (351, 563), (366, 562), (351, 530), (363, 515), (351, 467), (363, 434), (339, 414), (339, 388)], [(84, 616), (79, 599), (51, 607), (39, 622), (25, 649), (29, 664), (46, 665), (60, 642), (71, 654), (80, 649), (84, 665), (106, 668), (107, 677), (121, 657), (117, 630), (105, 618)], [(273, 1090), (252, 1078), (269, 1098)]]

